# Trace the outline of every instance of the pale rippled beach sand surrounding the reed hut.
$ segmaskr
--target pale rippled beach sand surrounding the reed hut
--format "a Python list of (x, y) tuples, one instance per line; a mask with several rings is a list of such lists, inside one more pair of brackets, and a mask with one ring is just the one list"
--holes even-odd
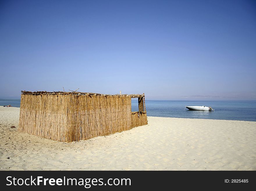
[(148, 117), (72, 143), (20, 133), (18, 123), (19, 108), (0, 106), (0, 170), (256, 170), (256, 122)]

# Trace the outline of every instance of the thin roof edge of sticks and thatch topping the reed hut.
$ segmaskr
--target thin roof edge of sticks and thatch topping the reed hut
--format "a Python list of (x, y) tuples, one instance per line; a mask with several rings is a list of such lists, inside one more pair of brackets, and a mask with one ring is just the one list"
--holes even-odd
[(36, 91), (36, 92), (29, 92), (29, 91), (21, 91), (22, 94), (31, 94), (31, 95), (42, 95), (42, 94), (49, 94), (49, 95), (60, 95), (60, 94), (73, 94), (73, 95), (96, 95), (96, 96), (130, 96), (131, 98), (136, 97), (144, 97), (144, 94), (98, 94), (98, 93), (86, 93), (86, 92), (46, 92), (46, 91)]

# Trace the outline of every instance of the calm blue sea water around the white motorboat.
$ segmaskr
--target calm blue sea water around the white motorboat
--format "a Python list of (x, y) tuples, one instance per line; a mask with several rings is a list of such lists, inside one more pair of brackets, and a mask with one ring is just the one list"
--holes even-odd
[[(20, 107), (20, 99), (0, 99), (0, 106)], [(211, 106), (214, 111), (191, 111), (185, 106)], [(167, 101), (146, 100), (147, 116), (193, 119), (256, 121), (256, 101)], [(131, 110), (138, 111), (138, 99), (132, 99)]]

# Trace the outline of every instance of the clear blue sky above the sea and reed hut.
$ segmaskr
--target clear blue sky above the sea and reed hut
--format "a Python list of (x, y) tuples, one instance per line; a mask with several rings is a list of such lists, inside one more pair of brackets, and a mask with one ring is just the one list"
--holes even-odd
[(256, 3), (0, 0), (0, 71), (0, 98), (256, 100)]

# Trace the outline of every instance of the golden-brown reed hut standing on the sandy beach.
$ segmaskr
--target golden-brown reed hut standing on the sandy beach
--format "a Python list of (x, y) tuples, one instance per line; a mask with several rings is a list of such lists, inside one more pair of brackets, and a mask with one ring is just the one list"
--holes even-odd
[[(131, 112), (131, 98), (138, 111)], [(147, 124), (144, 94), (22, 91), (19, 131), (63, 142), (86, 140)]]

